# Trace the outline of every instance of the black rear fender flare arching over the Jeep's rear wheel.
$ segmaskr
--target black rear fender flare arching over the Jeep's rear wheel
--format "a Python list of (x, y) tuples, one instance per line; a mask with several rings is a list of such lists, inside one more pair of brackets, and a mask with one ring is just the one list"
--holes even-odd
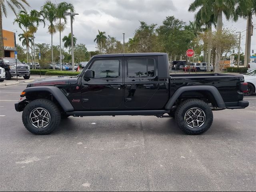
[(222, 96), (220, 95), (220, 92), (218, 89), (211, 85), (195, 85), (195, 86), (183, 86), (178, 88), (176, 92), (172, 95), (172, 97), (169, 99), (169, 101), (165, 105), (166, 110), (170, 110), (173, 106), (173, 104), (176, 102), (176, 100), (179, 98), (179, 96), (186, 91), (209, 91), (214, 96), (214, 99), (218, 105), (219, 108), (226, 108), (226, 105), (222, 99)]

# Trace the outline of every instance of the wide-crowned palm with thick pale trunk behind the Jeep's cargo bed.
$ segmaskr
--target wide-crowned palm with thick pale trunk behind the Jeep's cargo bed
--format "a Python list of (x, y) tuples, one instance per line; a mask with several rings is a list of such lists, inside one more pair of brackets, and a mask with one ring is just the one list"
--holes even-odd
[[(203, 10), (203, 19), (208, 20), (210, 15), (214, 13), (214, 16), (217, 18), (217, 34), (221, 36), (222, 34), (222, 14), (226, 16), (226, 19), (229, 20), (234, 16), (234, 9), (237, 0), (195, 0), (190, 7), (194, 10), (196, 8), (204, 8)], [(215, 58), (215, 72), (220, 72), (220, 58), (221, 58), (221, 47), (218, 45), (216, 47), (216, 58)]]

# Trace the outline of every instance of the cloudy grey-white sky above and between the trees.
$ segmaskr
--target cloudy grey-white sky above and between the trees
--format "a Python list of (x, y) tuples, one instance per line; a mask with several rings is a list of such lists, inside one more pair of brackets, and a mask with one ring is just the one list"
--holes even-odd
[[(27, 10), (39, 10), (44, 3), (43, 0), (27, 1), (31, 6)], [(63, 0), (52, 0), (56, 3), (61, 1)], [(139, 21), (161, 25), (166, 16), (172, 15), (185, 22), (194, 20), (194, 13), (188, 12), (188, 7), (193, 0), (66, 0), (66, 2), (72, 3), (76, 13), (79, 14), (73, 23), (73, 32), (78, 39), (77, 43), (86, 44), (89, 51), (96, 50), (93, 40), (96, 38), (98, 29), (120, 41), (123, 39), (122, 33), (125, 33), (125, 41), (127, 41), (128, 38), (133, 37), (134, 30), (139, 27)], [(18, 28), (17, 24), (12, 24), (14, 17), (14, 14), (9, 10), (7, 18), (3, 18), (3, 28), (14, 32), (17, 29), (17, 34), (20, 34), (22, 30)], [(252, 22), (256, 28), (255, 16)], [(48, 22), (46, 24), (48, 26)], [(39, 27), (35, 35), (36, 43), (46, 42), (50, 44), (51, 36), (47, 32), (47, 26), (45, 28)], [(240, 19), (238, 22), (231, 22), (224, 19), (224, 27), (242, 32), (246, 30), (246, 20)], [(70, 19), (68, 18), (66, 29), (62, 32), (62, 38), (69, 32)], [(245, 47), (245, 34), (246, 31), (242, 32), (242, 51)], [(53, 37), (54, 44), (59, 44), (59, 33), (54, 34)], [(18, 40), (17, 42), (20, 44)], [(256, 30), (252, 36), (251, 49), (256, 52)]]

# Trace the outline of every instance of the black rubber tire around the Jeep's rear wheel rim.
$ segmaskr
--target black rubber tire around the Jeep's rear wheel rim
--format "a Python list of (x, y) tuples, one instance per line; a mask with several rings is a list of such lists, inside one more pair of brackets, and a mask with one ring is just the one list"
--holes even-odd
[[(186, 117), (185, 114), (190, 109), (194, 110), (195, 108), (202, 110), (202, 112), (204, 112), (204, 114), (202, 113), (203, 114), (202, 116), (205, 116), (205, 118), (204, 118), (204, 123), (201, 126), (192, 128), (191, 126), (194, 126), (194, 124), (192, 125), (190, 124), (190, 126), (188, 126), (188, 124), (185, 121), (185, 117)], [(191, 118), (191, 120), (192, 119), (193, 118)], [(206, 132), (212, 125), (213, 114), (212, 114), (211, 108), (206, 104), (206, 102), (199, 99), (188, 99), (182, 102), (176, 109), (175, 120), (179, 128), (186, 134), (200, 135)]]

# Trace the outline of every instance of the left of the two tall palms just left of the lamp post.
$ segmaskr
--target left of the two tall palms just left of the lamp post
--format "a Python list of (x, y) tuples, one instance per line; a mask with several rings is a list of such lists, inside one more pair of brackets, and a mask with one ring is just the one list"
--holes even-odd
[[(52, 35), (56, 33), (56, 26), (53, 24), (57, 20), (57, 9), (56, 5), (53, 4), (50, 0), (47, 0), (44, 5), (41, 7), (42, 9), (42, 14), (44, 15), (44, 18), (46, 18), (49, 22), (50, 25), (48, 26), (48, 32)], [(54, 66), (54, 60), (53, 60), (53, 47), (52, 47), (52, 65), (53, 69), (55, 69)]]

